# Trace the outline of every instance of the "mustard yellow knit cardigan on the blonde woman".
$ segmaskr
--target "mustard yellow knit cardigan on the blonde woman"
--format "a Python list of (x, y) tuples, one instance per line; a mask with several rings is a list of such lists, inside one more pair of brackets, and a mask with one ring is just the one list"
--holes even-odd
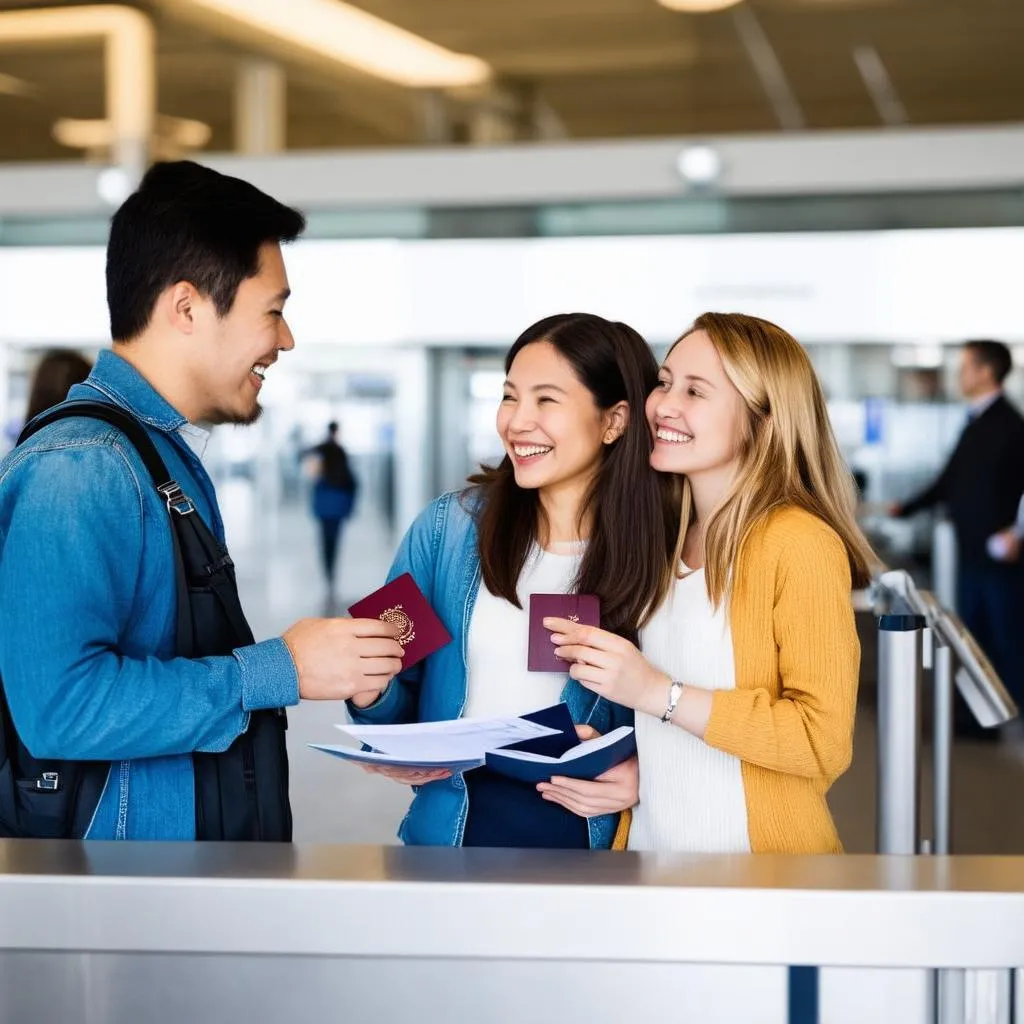
[[(825, 794), (853, 755), (850, 591), (842, 541), (803, 509), (776, 510), (742, 545), (728, 598), (736, 686), (715, 690), (705, 741), (742, 762), (754, 853), (842, 853)], [(624, 814), (613, 848), (628, 834)]]

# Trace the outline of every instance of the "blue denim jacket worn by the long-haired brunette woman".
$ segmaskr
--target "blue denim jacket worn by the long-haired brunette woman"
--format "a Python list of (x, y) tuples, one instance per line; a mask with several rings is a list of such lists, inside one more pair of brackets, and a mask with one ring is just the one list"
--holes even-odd
[[(467, 503), (472, 495), (442, 495), (420, 513), (402, 539), (388, 580), (410, 572), (452, 635), (452, 643), (388, 683), (376, 703), (356, 708), (352, 719), (365, 725), (398, 722), (439, 722), (461, 717), (466, 707), (467, 645), (473, 606), (480, 589), (480, 557), (476, 523)], [(632, 725), (629, 709), (610, 703), (566, 679), (562, 699), (572, 720), (605, 733)], [(461, 846), (469, 814), (461, 774), (414, 786), (409, 813), (398, 829), (410, 846)], [(590, 846), (611, 846), (617, 814), (588, 820)]]

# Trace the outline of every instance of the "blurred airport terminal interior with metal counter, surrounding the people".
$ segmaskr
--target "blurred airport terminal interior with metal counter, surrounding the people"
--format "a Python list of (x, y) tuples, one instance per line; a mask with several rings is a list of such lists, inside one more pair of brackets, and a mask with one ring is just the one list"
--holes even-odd
[[(110, 346), (110, 218), (154, 160), (306, 215), (295, 348), (203, 455), (257, 641), (346, 615), (419, 512), (503, 458), (528, 325), (598, 313), (662, 359), (741, 311), (807, 350), (861, 529), (995, 709), (947, 759), (948, 663), (926, 637), (913, 675), (880, 629), (891, 590), (855, 591), (853, 761), (828, 794), (849, 856), (811, 858), (402, 848), (411, 788), (312, 749), (347, 713), (303, 701), (294, 848), (0, 839), (0, 1024), (1024, 1022), (1024, 694), (942, 639), (945, 510), (891, 514), (968, 422), (966, 341), (1008, 346), (1024, 410), (1024, 3), (0, 0), (0, 457), (44, 355)], [(329, 584), (332, 422), (358, 490)], [(588, 928), (602, 907), (615, 928)]]

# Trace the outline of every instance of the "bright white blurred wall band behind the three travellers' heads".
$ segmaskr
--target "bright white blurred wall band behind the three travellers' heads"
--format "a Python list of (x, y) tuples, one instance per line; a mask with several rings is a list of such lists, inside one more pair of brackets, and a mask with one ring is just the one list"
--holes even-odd
[[(287, 262), (302, 345), (505, 346), (568, 309), (653, 342), (706, 309), (805, 341), (1024, 340), (1024, 228), (305, 242)], [(103, 294), (99, 249), (0, 250), (0, 342), (101, 343)]]

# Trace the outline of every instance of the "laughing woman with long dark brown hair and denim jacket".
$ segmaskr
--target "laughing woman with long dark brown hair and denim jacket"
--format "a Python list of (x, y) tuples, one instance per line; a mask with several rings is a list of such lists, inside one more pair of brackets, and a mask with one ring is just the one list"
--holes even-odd
[[(674, 513), (669, 481), (647, 468), (644, 421), (657, 364), (626, 325), (566, 313), (528, 328), (505, 371), (501, 464), (430, 505), (391, 567), (391, 579), (412, 573), (453, 642), (380, 696), (350, 701), (358, 722), (521, 715), (558, 700), (582, 735), (632, 720), (564, 672), (527, 672), (527, 609), (532, 593), (596, 594), (610, 635), (635, 640), (664, 591)], [(547, 797), (486, 768), (372, 770), (416, 786), (399, 830), (413, 845), (606, 848), (637, 799), (635, 760)]]

